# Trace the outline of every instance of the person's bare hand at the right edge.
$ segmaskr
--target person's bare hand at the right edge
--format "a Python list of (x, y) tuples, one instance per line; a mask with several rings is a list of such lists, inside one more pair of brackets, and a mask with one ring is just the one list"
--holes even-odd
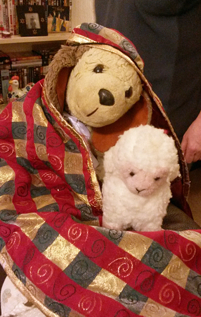
[(187, 163), (201, 159), (201, 112), (184, 134), (181, 147)]

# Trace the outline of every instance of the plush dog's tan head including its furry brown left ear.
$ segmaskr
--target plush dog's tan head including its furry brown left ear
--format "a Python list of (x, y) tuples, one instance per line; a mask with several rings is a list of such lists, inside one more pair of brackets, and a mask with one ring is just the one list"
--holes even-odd
[[(79, 51), (84, 53), (80, 56)], [(70, 58), (66, 60), (66, 56)], [(64, 67), (57, 70), (55, 77), (58, 65)], [(49, 95), (57, 97), (60, 112), (67, 104), (71, 114), (93, 127), (118, 120), (140, 99), (142, 92), (142, 80), (134, 67), (118, 54), (99, 48), (61, 48), (50, 65), (49, 77), (46, 82), (52, 84), (56, 80)]]

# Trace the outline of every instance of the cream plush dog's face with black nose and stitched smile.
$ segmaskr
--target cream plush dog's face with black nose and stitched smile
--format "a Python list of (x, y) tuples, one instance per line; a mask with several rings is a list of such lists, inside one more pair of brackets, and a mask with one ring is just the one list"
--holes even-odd
[(101, 127), (126, 113), (140, 99), (141, 91), (140, 77), (124, 58), (92, 48), (70, 74), (66, 101), (80, 121)]

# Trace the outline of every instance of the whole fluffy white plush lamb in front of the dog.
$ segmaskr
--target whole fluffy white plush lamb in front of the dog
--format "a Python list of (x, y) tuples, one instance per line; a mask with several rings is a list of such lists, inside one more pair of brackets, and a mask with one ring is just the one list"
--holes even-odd
[(161, 229), (179, 173), (174, 140), (150, 125), (132, 128), (104, 155), (103, 218), (107, 228)]

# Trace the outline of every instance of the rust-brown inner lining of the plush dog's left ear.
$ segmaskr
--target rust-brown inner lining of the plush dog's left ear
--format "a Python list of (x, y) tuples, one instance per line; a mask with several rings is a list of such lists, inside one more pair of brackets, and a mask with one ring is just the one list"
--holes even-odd
[(64, 108), (65, 103), (65, 92), (68, 83), (68, 78), (70, 76), (71, 70), (73, 67), (63, 67), (58, 73), (57, 82), (56, 82), (56, 94), (58, 98), (58, 103), (61, 108), (61, 113)]

